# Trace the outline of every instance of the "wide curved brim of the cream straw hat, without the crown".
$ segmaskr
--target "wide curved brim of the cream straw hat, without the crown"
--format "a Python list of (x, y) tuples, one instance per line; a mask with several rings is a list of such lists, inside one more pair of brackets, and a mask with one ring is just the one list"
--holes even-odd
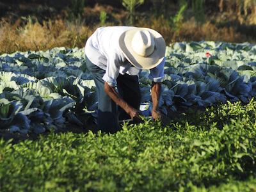
[[(152, 54), (147, 57), (140, 56), (134, 52), (131, 45), (134, 34), (141, 29), (147, 29), (154, 36), (155, 40), (155, 49)], [(135, 28), (124, 31), (119, 38), (119, 46), (124, 53), (125, 58), (127, 58), (134, 67), (140, 69), (150, 69), (159, 65), (161, 61), (163, 61), (166, 49), (163, 36), (157, 31), (149, 28)]]

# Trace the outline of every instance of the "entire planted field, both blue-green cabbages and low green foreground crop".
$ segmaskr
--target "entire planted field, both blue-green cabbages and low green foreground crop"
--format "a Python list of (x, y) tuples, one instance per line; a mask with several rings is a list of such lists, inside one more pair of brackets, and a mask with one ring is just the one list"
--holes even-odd
[[(165, 125), (56, 133), (96, 122), (84, 62), (83, 49), (65, 47), (0, 56), (0, 133), (39, 134), (0, 140), (1, 191), (256, 191), (256, 45), (166, 47)], [(147, 76), (141, 109), (150, 116)]]

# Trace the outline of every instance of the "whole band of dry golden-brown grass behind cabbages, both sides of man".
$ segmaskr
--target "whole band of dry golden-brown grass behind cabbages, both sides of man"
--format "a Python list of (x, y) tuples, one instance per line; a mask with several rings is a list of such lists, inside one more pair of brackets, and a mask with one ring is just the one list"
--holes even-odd
[[(106, 25), (113, 25), (108, 23)], [(150, 17), (141, 19), (136, 26), (156, 29), (161, 33), (166, 44), (179, 41), (226, 41), (226, 42), (255, 42), (251, 37), (237, 33), (234, 27), (217, 28), (210, 21), (205, 24), (196, 24), (195, 19), (187, 20), (174, 31), (170, 27), (168, 19), (164, 17)], [(50, 20), (40, 24), (28, 19), (21, 26), (18, 20), (15, 24), (0, 22), (0, 54), (15, 51), (38, 51), (51, 49), (52, 47), (83, 47), (88, 36), (99, 27), (86, 26), (81, 20), (68, 22), (66, 20)]]

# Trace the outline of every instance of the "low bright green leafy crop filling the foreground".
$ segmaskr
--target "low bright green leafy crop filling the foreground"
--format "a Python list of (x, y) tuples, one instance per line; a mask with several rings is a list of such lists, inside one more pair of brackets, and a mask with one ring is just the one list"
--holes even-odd
[(0, 140), (1, 190), (249, 191), (256, 180), (255, 106), (191, 110), (166, 127), (146, 120), (116, 134)]

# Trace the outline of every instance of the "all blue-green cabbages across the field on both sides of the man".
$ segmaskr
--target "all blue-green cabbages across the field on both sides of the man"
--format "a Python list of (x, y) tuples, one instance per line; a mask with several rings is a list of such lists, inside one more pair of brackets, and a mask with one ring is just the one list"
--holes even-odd
[[(44, 132), (97, 116), (97, 94), (83, 49), (15, 52), (0, 56), (0, 129)], [(166, 47), (161, 111), (248, 102), (256, 94), (256, 45), (180, 42)], [(149, 102), (148, 71), (140, 73), (141, 103)], [(150, 108), (149, 108), (150, 109)], [(150, 115), (150, 110), (146, 111)], [(145, 113), (146, 114), (146, 113)]]

